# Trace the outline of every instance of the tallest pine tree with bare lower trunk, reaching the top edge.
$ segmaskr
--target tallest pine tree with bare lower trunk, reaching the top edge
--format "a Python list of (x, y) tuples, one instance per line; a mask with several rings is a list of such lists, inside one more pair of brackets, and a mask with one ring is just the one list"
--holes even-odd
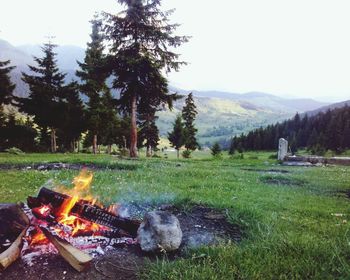
[[(173, 35), (177, 25), (169, 24), (171, 11), (159, 9), (160, 0), (118, 0), (126, 10), (118, 15), (105, 13), (105, 33), (111, 41), (109, 65), (116, 77), (113, 87), (120, 91), (120, 106), (130, 114), (130, 156), (137, 157), (137, 113), (142, 97), (154, 107), (171, 104), (162, 74), (177, 70), (183, 62), (169, 50), (180, 46), (187, 37)], [(157, 90), (154, 90), (154, 89)]]

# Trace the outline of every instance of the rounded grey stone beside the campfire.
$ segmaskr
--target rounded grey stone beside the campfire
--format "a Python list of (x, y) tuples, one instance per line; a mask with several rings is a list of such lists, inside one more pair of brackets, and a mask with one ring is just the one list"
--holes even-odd
[(137, 232), (141, 249), (146, 252), (177, 250), (182, 241), (179, 220), (166, 211), (146, 213)]

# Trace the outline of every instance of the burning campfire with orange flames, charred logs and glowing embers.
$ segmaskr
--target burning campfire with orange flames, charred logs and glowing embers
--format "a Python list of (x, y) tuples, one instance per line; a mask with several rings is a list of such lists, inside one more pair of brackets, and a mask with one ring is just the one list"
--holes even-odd
[(137, 244), (141, 221), (118, 215), (90, 194), (93, 174), (82, 170), (73, 189), (42, 187), (27, 204), (4, 205), (0, 222), (0, 270), (18, 257), (59, 253), (77, 271), (86, 269), (94, 254), (120, 244)]

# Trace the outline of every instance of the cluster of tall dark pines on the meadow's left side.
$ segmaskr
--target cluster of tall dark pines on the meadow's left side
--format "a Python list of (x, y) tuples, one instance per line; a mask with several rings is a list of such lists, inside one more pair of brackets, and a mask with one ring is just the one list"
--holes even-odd
[[(126, 9), (117, 15), (103, 13), (92, 23), (85, 59), (79, 62), (79, 82), (65, 83), (57, 66), (55, 45), (43, 45), (30, 73), (22, 73), (29, 86), (26, 98), (13, 96), (10, 61), (0, 62), (0, 149), (16, 146), (27, 151), (74, 151), (84, 145), (97, 153), (117, 144), (131, 157), (146, 147), (157, 148), (156, 112), (170, 109), (180, 95), (170, 93), (164, 76), (185, 62), (173, 50), (188, 41), (175, 35), (171, 11), (160, 10), (160, 0), (118, 0)], [(106, 47), (108, 46), (108, 47)], [(27, 119), (5, 114), (12, 104)]]

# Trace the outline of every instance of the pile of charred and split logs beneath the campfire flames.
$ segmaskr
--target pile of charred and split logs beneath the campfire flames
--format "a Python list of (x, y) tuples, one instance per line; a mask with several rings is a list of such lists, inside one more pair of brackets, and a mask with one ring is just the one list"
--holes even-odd
[(28, 197), (25, 211), (23, 205), (0, 205), (0, 271), (21, 255), (23, 240), (28, 241), (30, 251), (34, 233), (41, 234), (45, 242), (53, 244), (79, 272), (89, 267), (92, 257), (70, 242), (74, 238), (86, 241), (82, 248), (137, 242), (135, 237), (140, 221), (119, 217), (83, 199), (77, 200), (69, 213), (69, 218), (79, 220), (83, 226), (79, 229), (71, 224), (67, 226), (60, 220), (60, 209), (71, 199), (67, 194), (43, 187), (37, 197)]

